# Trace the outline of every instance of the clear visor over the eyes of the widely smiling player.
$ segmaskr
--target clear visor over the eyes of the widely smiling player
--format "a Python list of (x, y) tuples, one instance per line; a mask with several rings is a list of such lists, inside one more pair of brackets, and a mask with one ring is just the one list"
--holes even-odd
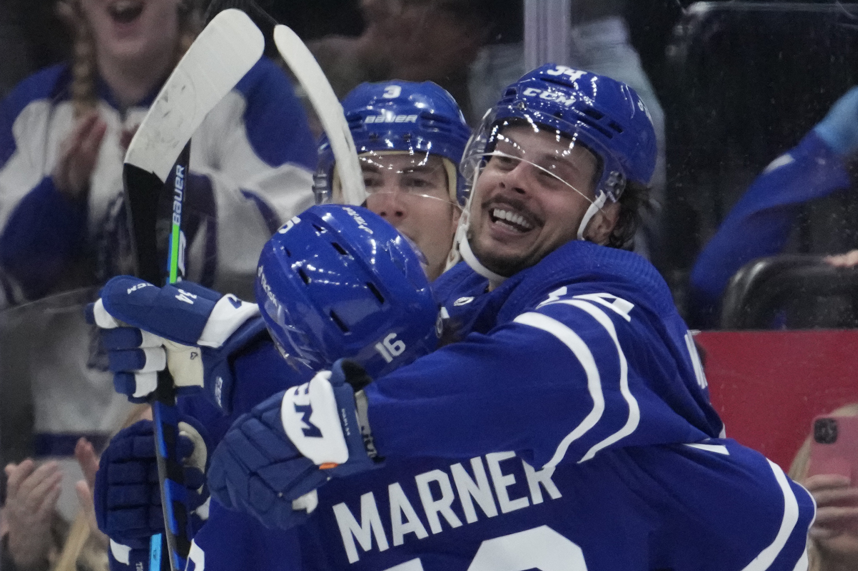
[(571, 191), (590, 204), (597, 203), (604, 168), (594, 145), (585, 144), (571, 123), (544, 117), (539, 111), (516, 111), (517, 117), (498, 120), (498, 110), (483, 117), (462, 159), (466, 180), (476, 188), (477, 178), (484, 173), (517, 170), (528, 188)]

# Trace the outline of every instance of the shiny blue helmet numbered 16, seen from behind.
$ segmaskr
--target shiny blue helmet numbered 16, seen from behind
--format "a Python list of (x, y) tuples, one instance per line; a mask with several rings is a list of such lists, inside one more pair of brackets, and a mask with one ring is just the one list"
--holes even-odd
[(408, 238), (366, 208), (314, 206), (263, 247), (256, 298), (287, 360), (320, 370), (353, 358), (377, 377), (438, 342), (421, 263)]

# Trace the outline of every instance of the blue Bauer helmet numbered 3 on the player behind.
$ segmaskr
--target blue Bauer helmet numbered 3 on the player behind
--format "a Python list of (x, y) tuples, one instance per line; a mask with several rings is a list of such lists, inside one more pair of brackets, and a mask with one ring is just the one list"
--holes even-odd
[[(465, 180), (458, 165), (471, 134), (456, 99), (432, 81), (361, 83), (342, 100), (359, 155), (434, 154), (444, 159), (450, 200), (464, 205)], [(317, 202), (334, 195), (335, 159), (327, 135), (319, 141)]]

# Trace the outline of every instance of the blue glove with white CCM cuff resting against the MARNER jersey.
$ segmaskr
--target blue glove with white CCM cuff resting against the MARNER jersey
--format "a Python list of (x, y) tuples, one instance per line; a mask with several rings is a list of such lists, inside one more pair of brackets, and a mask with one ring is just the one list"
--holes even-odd
[[(366, 406), (355, 400), (355, 391), (371, 379), (350, 361), (341, 359), (331, 369), (235, 421), (208, 469), (218, 502), (287, 529), (309, 517), (315, 490), (330, 478), (378, 466)], [(358, 401), (365, 403), (362, 395)]]

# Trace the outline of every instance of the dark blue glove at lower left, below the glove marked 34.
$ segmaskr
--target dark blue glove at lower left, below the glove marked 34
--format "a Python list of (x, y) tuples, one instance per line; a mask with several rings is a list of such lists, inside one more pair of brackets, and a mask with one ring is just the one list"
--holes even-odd
[[(189, 537), (208, 520), (208, 486), (205, 470), (211, 448), (208, 433), (195, 418), (178, 423), (178, 455), (184, 463), (188, 489)], [(131, 551), (148, 554), (149, 538), (164, 532), (158, 465), (155, 460), (154, 424), (141, 420), (113, 436), (95, 474), (93, 499), (99, 529), (111, 539), (112, 555), (124, 562)]]

